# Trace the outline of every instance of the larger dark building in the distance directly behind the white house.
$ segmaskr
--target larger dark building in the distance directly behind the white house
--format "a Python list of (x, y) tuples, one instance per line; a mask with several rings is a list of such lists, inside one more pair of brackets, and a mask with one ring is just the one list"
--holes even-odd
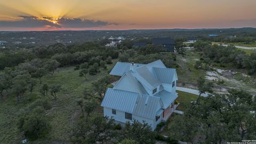
[(174, 40), (169, 37), (153, 38), (152, 44), (162, 45), (168, 52), (174, 52)]

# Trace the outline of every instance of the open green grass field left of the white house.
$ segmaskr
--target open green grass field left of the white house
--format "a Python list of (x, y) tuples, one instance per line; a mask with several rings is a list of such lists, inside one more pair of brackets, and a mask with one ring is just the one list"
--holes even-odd
[[(108, 65), (108, 69), (111, 69), (114, 64), (115, 62), (113, 65)], [(100, 74), (87, 76), (88, 81), (85, 81), (84, 77), (79, 77), (78, 73), (79, 70), (75, 71), (74, 67), (67, 67), (58, 69), (53, 77), (50, 75), (43, 77), (43, 83), (59, 84), (61, 91), (57, 93), (57, 100), (49, 98), (52, 109), (47, 111), (47, 115), (51, 117), (51, 132), (46, 135), (46, 138), (32, 143), (68, 143), (71, 127), (81, 110), (76, 105), (76, 99), (82, 97), (85, 87), (90, 87), (91, 82), (106, 76), (108, 71), (101, 70)], [(20, 143), (23, 139), (22, 134), (17, 129), (17, 115), (21, 109), (25, 109), (36, 99), (43, 97), (42, 94), (38, 93), (40, 86), (38, 81), (32, 96), (26, 94), (25, 99), (19, 103), (16, 102), (13, 94), (0, 101), (0, 143)], [(97, 113), (102, 113), (100, 106), (97, 108)]]

